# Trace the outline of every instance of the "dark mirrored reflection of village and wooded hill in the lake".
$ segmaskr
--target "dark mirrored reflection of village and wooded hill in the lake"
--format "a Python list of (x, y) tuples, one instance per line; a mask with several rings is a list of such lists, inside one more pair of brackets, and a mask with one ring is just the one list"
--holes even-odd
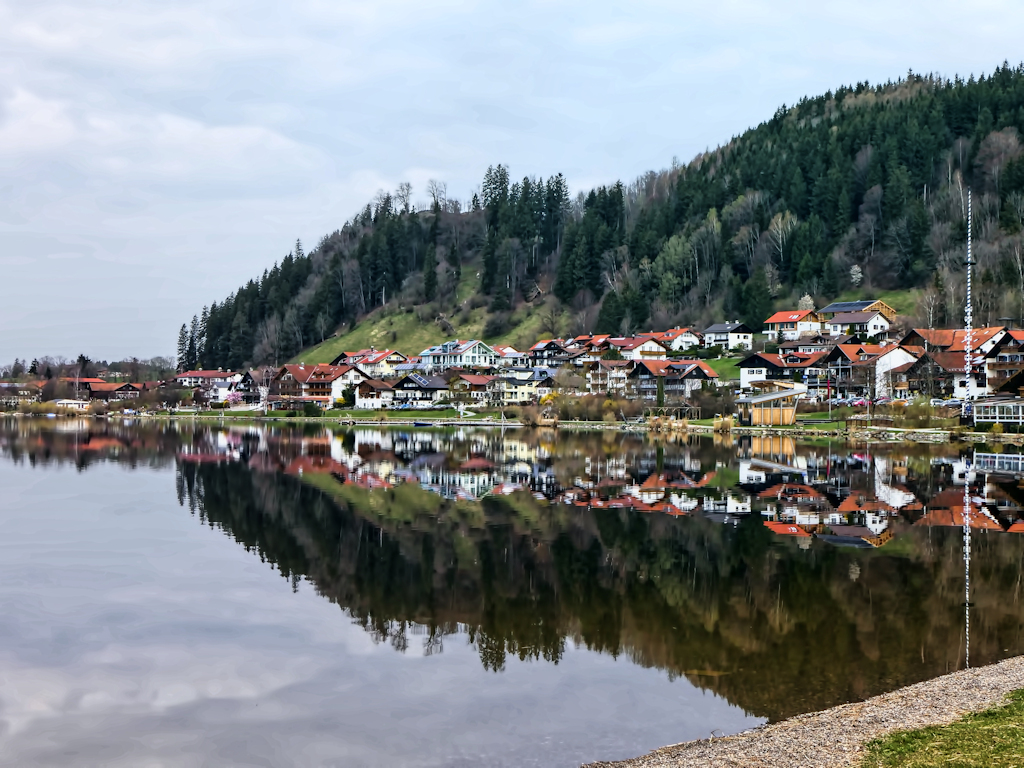
[[(577, 642), (773, 719), (963, 664), (962, 543), (941, 524), (961, 474), (948, 447), (318, 428), (175, 439), (182, 504), (398, 649), (440, 652), (465, 631), (500, 670)], [(1010, 484), (973, 481), (994, 494), (986, 519), (1017, 514), (1013, 493), (989, 487)], [(857, 549), (763, 524), (813, 529), (844, 505), (896, 536)], [(975, 538), (976, 664), (1022, 652), (1024, 538), (1006, 526)]]

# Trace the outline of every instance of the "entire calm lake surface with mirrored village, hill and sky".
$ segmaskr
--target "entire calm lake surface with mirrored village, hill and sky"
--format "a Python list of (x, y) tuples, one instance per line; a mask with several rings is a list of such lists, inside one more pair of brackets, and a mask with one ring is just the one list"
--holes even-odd
[(857, 700), (964, 664), (965, 480), (993, 662), (1017, 462), (0, 421), (0, 765), (573, 766)]

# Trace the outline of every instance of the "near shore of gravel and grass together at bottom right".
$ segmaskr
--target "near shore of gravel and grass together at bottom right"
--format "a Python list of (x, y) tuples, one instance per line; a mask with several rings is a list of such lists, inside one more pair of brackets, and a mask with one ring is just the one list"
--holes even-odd
[(734, 736), (586, 768), (1009, 768), (1024, 765), (1022, 689), (1024, 656), (1017, 656)]

